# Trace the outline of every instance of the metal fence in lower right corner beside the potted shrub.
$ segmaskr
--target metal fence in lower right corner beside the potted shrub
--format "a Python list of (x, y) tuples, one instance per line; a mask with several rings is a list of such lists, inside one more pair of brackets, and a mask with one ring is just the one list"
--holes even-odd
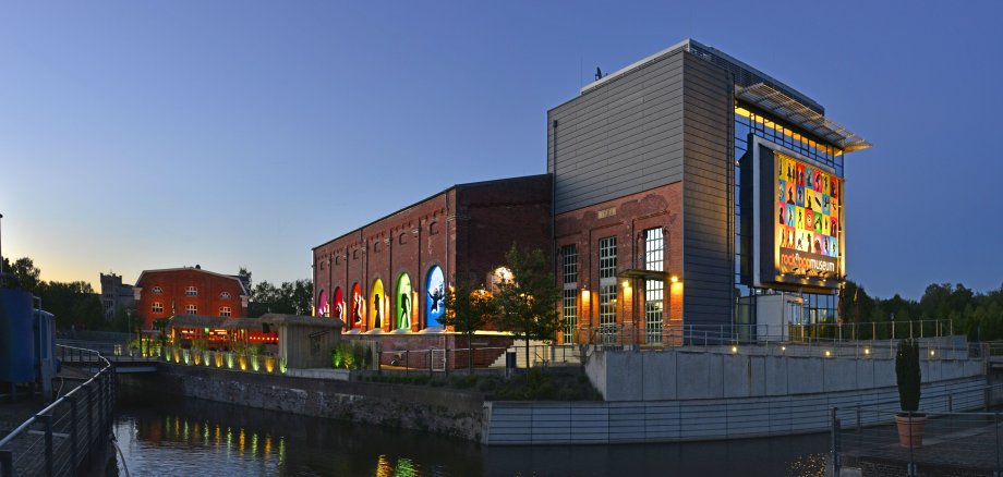
[(897, 401), (833, 407), (834, 475), (843, 467), (862, 475), (1003, 475), (1003, 415), (953, 411), (988, 409), (1001, 391), (1000, 384), (986, 387), (981, 403), (952, 401), (947, 394), (941, 396), (946, 402), (925, 404), (947, 411), (923, 411), (921, 417), (901, 415)]

